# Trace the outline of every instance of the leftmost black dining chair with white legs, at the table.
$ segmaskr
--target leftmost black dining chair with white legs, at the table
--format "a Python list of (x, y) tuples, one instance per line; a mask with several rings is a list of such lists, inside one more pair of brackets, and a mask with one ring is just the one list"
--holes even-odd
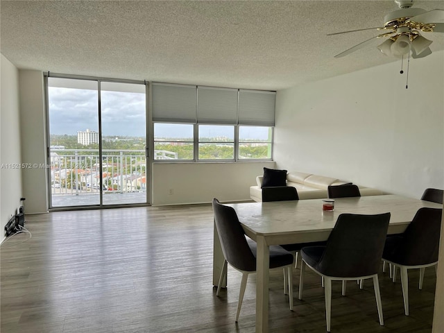
[[(221, 285), (226, 277), (227, 263), (237, 271), (242, 273), (241, 289), (239, 291), (239, 300), (237, 303), (236, 322), (239, 319), (242, 300), (248, 280), (248, 275), (256, 273), (256, 253), (257, 244), (255, 241), (246, 239), (244, 229), (232, 207), (222, 205), (216, 198), (212, 201), (214, 212), (214, 221), (216, 230), (219, 234), (219, 241), (223, 252), (224, 262), (217, 285), (216, 296), (219, 296)], [(270, 246), (270, 269), (284, 268), (289, 282), (289, 304), (293, 309), (293, 255), (280, 246)]]

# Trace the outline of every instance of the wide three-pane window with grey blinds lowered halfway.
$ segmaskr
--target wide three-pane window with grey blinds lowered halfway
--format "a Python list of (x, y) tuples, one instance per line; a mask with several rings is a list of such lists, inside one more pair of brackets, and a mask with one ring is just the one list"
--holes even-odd
[(151, 87), (155, 160), (271, 160), (275, 92)]

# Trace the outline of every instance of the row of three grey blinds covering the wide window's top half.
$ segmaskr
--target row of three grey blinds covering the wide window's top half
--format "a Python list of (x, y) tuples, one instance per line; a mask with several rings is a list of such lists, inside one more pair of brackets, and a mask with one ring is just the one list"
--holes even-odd
[(152, 84), (153, 121), (274, 126), (275, 92)]

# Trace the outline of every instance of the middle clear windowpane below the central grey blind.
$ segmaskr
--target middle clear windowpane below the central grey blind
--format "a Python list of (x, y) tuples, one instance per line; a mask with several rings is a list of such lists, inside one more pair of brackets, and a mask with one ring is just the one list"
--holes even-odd
[(199, 160), (234, 160), (234, 126), (199, 125)]

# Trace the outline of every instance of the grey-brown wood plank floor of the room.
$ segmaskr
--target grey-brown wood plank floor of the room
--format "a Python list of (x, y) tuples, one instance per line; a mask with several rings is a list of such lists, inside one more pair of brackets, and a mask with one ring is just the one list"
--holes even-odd
[[(2, 333), (254, 332), (255, 275), (234, 323), (241, 274), (228, 268), (228, 289), (212, 286), (210, 205), (135, 207), (26, 216), (32, 238), (19, 234), (1, 248)], [(6, 247), (8, 246), (8, 247)], [(270, 277), (270, 332), (325, 332), (318, 275), (307, 270), (304, 299), (294, 310), (282, 274)], [(409, 274), (410, 316), (400, 281), (380, 272), (385, 325), (379, 326), (373, 283), (334, 284), (332, 332), (432, 332), (434, 268), (423, 289)]]

